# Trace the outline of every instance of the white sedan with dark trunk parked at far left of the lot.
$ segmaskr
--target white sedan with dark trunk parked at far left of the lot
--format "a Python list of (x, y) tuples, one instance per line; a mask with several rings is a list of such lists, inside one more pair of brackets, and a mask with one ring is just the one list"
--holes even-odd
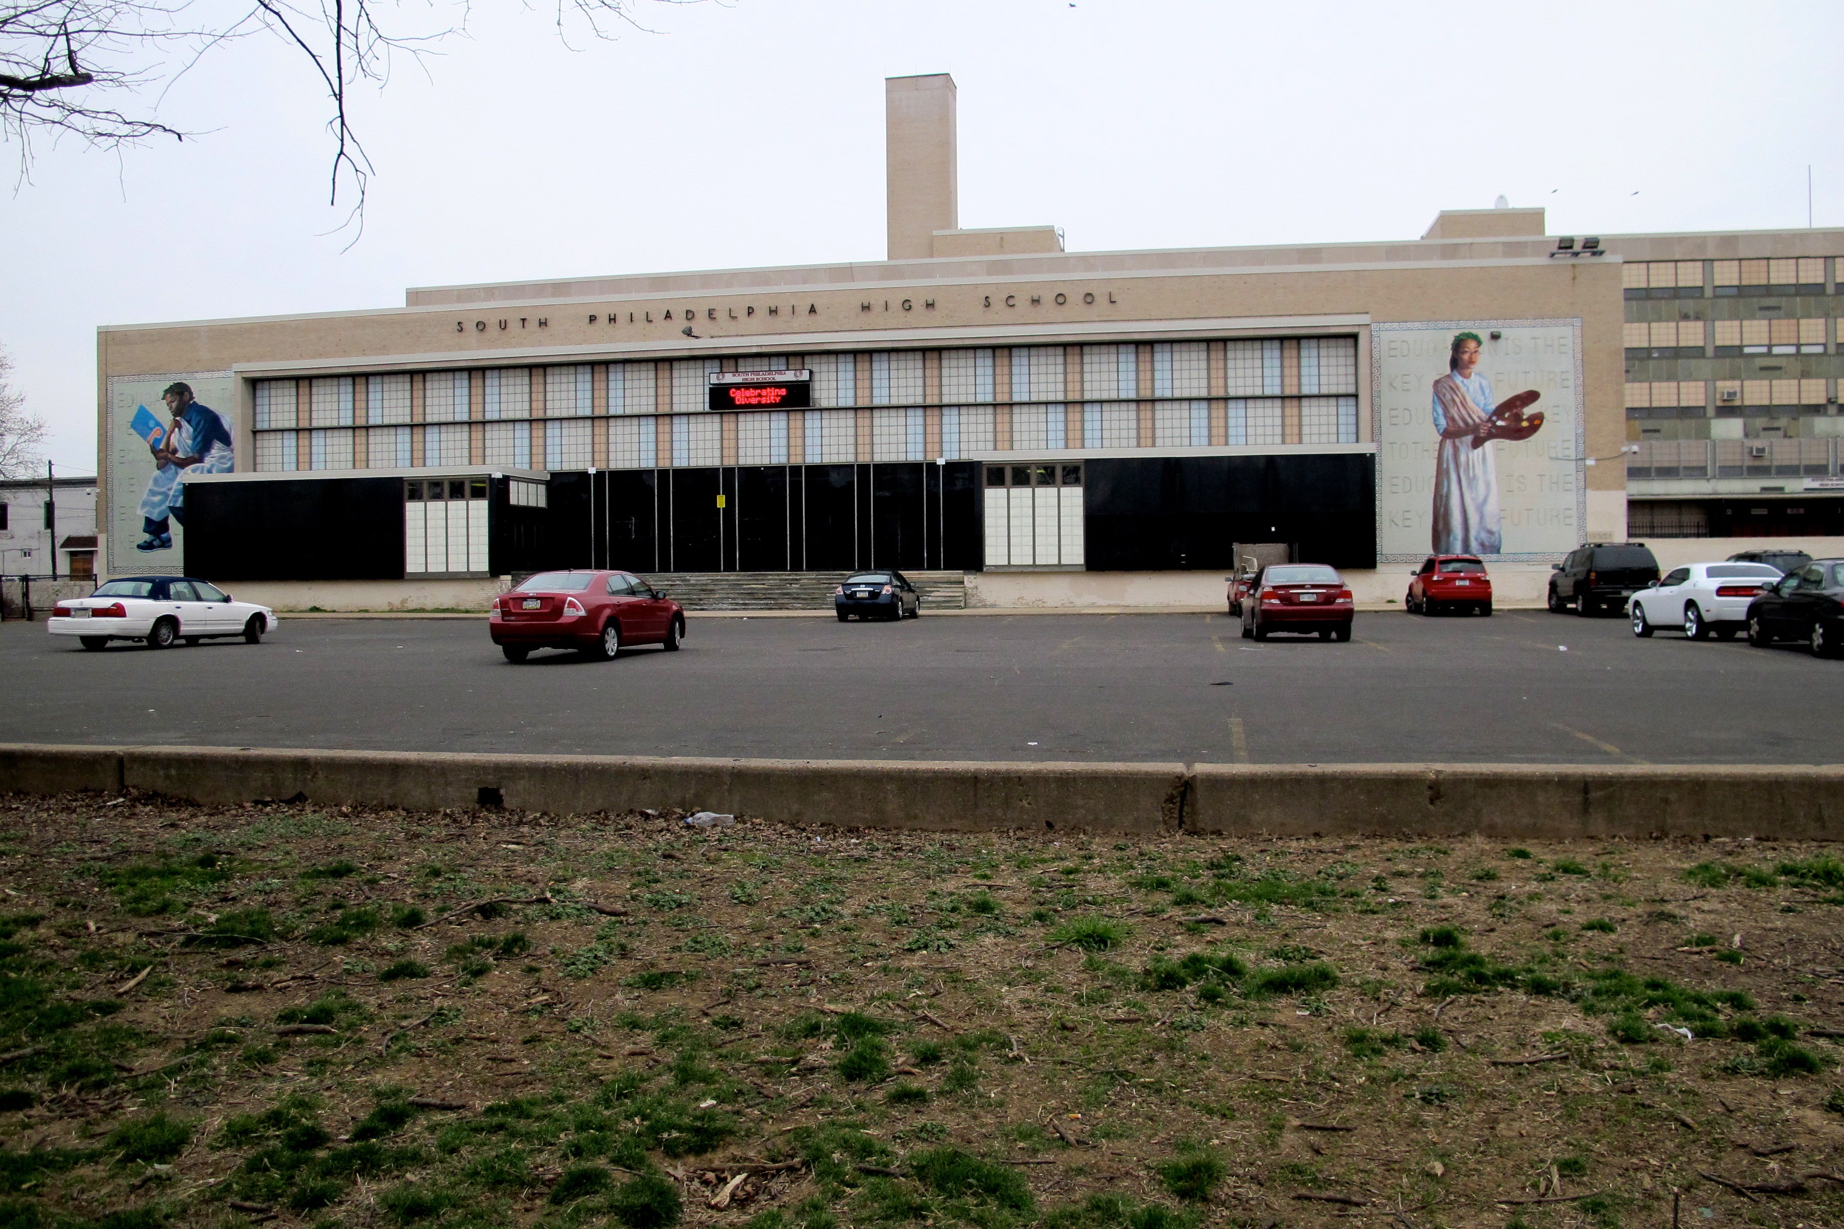
[(131, 577), (111, 580), (89, 597), (57, 603), (46, 630), (76, 636), (85, 649), (111, 639), (138, 639), (149, 649), (171, 649), (175, 639), (195, 645), (219, 636), (242, 636), (254, 645), (278, 619), (267, 606), (232, 601), (195, 577)]

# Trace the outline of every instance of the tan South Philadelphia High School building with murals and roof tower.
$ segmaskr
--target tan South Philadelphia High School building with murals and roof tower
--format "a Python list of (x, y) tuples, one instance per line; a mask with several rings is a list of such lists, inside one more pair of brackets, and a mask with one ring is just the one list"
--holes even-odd
[[(1577, 243), (1499, 208), (1401, 243), (1066, 252), (1055, 227), (959, 228), (953, 133), (948, 77), (889, 83), (883, 262), (100, 330), (109, 571), (409, 608), (572, 564), (894, 566), (963, 571), (987, 604), (1158, 606), (1221, 601), (1256, 545), (1370, 601), (1466, 549), (1536, 597), (1569, 549), (1626, 536), (1623, 462), (1665, 439), (1632, 418), (1636, 365), (1689, 361), (1682, 330), (1634, 357), (1636, 311), (1689, 310), (1682, 249), (1650, 298), (1665, 238)], [(1838, 232), (1698, 238), (1709, 311), (1724, 262), (1816, 260), (1829, 302), (1844, 252)], [(1649, 398), (1667, 381), (1639, 374)], [(1693, 376), (1671, 376), (1682, 400)], [(1798, 422), (1835, 422), (1835, 372), (1803, 378), (1829, 400)], [(203, 413), (170, 415), (175, 383)], [(1468, 437), (1495, 407), (1523, 418)], [(210, 455), (177, 472), (149, 444), (168, 433)]]

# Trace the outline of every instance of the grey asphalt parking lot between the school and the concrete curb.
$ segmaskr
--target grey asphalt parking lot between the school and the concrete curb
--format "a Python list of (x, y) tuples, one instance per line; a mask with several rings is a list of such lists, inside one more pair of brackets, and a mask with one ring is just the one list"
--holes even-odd
[(692, 617), (684, 650), (511, 665), (485, 621), (286, 619), (83, 652), (0, 625), (0, 741), (789, 759), (1835, 763), (1844, 661), (1547, 612)]

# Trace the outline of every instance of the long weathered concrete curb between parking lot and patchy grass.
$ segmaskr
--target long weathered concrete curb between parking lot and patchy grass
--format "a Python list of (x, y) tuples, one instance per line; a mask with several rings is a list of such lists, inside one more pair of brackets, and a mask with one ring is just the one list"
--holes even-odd
[(1844, 837), (1838, 765), (1178, 765), (0, 744), (0, 790), (1121, 835)]

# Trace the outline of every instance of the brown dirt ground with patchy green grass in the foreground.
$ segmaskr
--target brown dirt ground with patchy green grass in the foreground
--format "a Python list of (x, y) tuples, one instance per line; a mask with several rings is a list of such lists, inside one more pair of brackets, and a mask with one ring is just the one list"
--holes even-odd
[(0, 859), (0, 1229), (1844, 1222), (1820, 846), (6, 796)]

